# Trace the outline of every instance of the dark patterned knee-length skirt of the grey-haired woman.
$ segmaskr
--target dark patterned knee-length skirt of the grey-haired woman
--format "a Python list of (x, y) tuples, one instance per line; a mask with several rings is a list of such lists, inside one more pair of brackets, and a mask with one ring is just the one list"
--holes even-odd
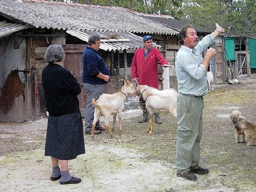
[(49, 116), (45, 142), (45, 156), (61, 160), (84, 154), (84, 133), (81, 113)]

